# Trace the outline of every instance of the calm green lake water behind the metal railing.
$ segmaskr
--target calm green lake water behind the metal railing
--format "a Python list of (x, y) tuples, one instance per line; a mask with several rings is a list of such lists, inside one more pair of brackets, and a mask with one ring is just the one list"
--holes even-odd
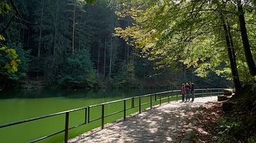
[[(115, 101), (122, 98), (141, 96), (146, 93), (155, 93), (167, 91), (164, 89), (131, 89), (131, 90), (72, 90), (72, 89), (43, 89), (43, 90), (11, 90), (0, 91), (0, 125), (28, 118), (35, 118), (60, 111), (85, 107)], [(142, 103), (149, 101), (149, 98), (142, 98)], [(127, 108), (131, 108), (131, 100), (127, 101)], [(138, 105), (135, 101), (135, 105)], [(156, 102), (154, 103), (154, 105)], [(142, 109), (149, 105), (143, 105)], [(123, 103), (113, 103), (105, 105), (105, 115), (117, 112), (123, 109)], [(135, 113), (139, 108), (127, 110), (127, 115)], [(90, 109), (90, 119), (101, 117), (101, 108)], [(105, 123), (117, 120), (123, 117), (123, 113), (118, 113), (105, 118)], [(85, 120), (85, 110), (70, 113), (69, 127), (78, 125)], [(68, 137), (72, 138), (82, 134), (95, 127), (100, 127), (101, 120), (90, 122), (87, 125), (75, 128), (69, 131)], [(0, 142), (16, 143), (30, 142), (33, 139), (49, 135), (53, 132), (63, 130), (65, 127), (65, 114), (45, 118), (32, 122), (26, 122), (21, 125), (0, 128)], [(63, 142), (64, 134), (60, 133), (40, 142)]]

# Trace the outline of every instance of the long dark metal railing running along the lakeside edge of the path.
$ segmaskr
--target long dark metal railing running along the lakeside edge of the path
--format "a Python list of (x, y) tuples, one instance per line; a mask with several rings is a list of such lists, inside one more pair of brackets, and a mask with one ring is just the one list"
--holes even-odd
[[(209, 95), (210, 96), (220, 95), (220, 93), (223, 93), (223, 88), (195, 89), (194, 97), (200, 96), (200, 95), (202, 97), (209, 96)], [(168, 95), (163, 96), (164, 94), (168, 94)], [(116, 115), (118, 113), (123, 112), (123, 118), (125, 120), (126, 117), (127, 117), (127, 110), (131, 110), (132, 108), (139, 107), (139, 113), (142, 113), (142, 105), (148, 105), (149, 104), (149, 107), (151, 109), (152, 106), (153, 106), (153, 103), (159, 102), (159, 104), (156, 103), (156, 105), (161, 105), (164, 102), (164, 100), (167, 100), (165, 102), (169, 103), (171, 101), (171, 98), (174, 99), (175, 96), (176, 96), (176, 101), (178, 101), (178, 98), (181, 97), (181, 90), (164, 91), (164, 92), (159, 92), (159, 93), (150, 93), (150, 94), (146, 94), (146, 95), (143, 95), (143, 96), (135, 96), (135, 97), (131, 97), (131, 98), (120, 99), (120, 100), (117, 100), (117, 101), (110, 101), (110, 102), (107, 102), (107, 103), (100, 103), (100, 104), (97, 104), (97, 105), (89, 105), (89, 106), (86, 106), (86, 107), (83, 107), (83, 108), (76, 108), (76, 109), (73, 109), (73, 110), (66, 110), (66, 111), (63, 111), (63, 112), (60, 112), (60, 113), (53, 113), (53, 114), (50, 114), (50, 115), (44, 115), (44, 116), (37, 117), (37, 118), (30, 118), (30, 119), (21, 120), (21, 121), (18, 121), (18, 122), (11, 122), (11, 123), (8, 123), (8, 124), (0, 125), (0, 129), (4, 128), (4, 127), (10, 127), (10, 126), (13, 126), (13, 125), (22, 124), (22, 123), (25, 123), (25, 122), (31, 122), (31, 121), (34, 121), (34, 120), (41, 120), (41, 119), (44, 119), (44, 118), (50, 118), (50, 117), (53, 117), (53, 116), (65, 114), (65, 128), (63, 130), (59, 130), (58, 132), (53, 132), (50, 135), (46, 135), (44, 137), (34, 139), (31, 142), (38, 142), (38, 141), (41, 141), (42, 139), (52, 137), (53, 135), (58, 135), (61, 132), (65, 132), (64, 142), (68, 142), (68, 131), (69, 130), (72, 130), (76, 127), (80, 127), (80, 126), (85, 125), (85, 124), (90, 123), (90, 122), (95, 122), (96, 120), (101, 120), (101, 127), (103, 129), (104, 125), (105, 125), (104, 119), (107, 118), (107, 117), (110, 117), (111, 115)], [(149, 97), (149, 101), (142, 103), (142, 98), (146, 98), (146, 97)], [(131, 101), (131, 107), (130, 108), (127, 108), (127, 101)], [(137, 103), (137, 105), (136, 105), (135, 101), (139, 101), (139, 103)], [(105, 115), (105, 105), (110, 105), (112, 103), (119, 103), (119, 102), (122, 103), (122, 105), (123, 105), (122, 110), (118, 110), (114, 113), (110, 113), (110, 114)], [(101, 106), (101, 116), (99, 118), (90, 119), (90, 110), (92, 108), (96, 108), (96, 107), (100, 107), (100, 106)], [(82, 122), (78, 125), (74, 125), (73, 127), (69, 127), (70, 113), (78, 111), (78, 110), (84, 110), (84, 112), (85, 112), (84, 122)]]

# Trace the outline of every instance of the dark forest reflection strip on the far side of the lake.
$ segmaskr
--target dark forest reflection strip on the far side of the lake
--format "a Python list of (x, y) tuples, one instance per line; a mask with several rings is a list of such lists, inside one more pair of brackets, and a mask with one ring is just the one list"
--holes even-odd
[(103, 98), (132, 97), (168, 89), (13, 89), (0, 92), (0, 99), (8, 98)]

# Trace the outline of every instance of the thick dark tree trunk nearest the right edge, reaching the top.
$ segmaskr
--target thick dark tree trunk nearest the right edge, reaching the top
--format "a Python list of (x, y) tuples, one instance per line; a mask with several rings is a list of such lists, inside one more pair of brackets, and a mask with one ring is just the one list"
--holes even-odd
[(238, 0), (238, 14), (239, 14), (239, 24), (240, 24), (240, 31), (241, 31), (241, 37), (242, 37), (242, 45), (245, 50), (245, 58), (248, 64), (248, 67), (250, 69), (250, 74), (252, 76), (256, 76), (256, 67), (255, 62), (252, 57), (252, 52), (250, 50), (250, 44), (247, 37), (247, 30), (245, 25), (245, 12), (243, 11), (241, 0)]

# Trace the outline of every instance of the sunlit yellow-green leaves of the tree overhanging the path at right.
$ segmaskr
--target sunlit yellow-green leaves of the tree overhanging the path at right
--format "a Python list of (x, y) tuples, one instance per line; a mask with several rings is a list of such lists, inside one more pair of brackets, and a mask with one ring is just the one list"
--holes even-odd
[[(134, 25), (126, 28), (116, 28), (116, 34), (130, 45), (142, 49), (141, 54), (149, 60), (158, 60), (157, 68), (166, 68), (170, 64), (181, 62), (186, 67), (195, 67), (198, 76), (206, 77), (209, 71), (215, 71), (220, 76), (231, 78), (228, 63), (228, 50), (225, 43), (222, 21), (224, 16), (232, 29), (231, 35), (237, 57), (238, 71), (242, 81), (248, 82), (248, 70), (245, 65), (245, 55), (242, 48), (237, 16), (222, 11), (234, 11), (236, 4), (218, 1), (124, 1), (123, 11), (117, 14), (121, 18), (128, 16), (134, 20)], [(201, 11), (201, 10), (206, 11)], [(210, 9), (215, 9), (211, 11)], [(245, 4), (248, 21), (255, 21), (254, 5)], [(188, 14), (189, 13), (189, 14)], [(252, 14), (254, 13), (254, 14)], [(250, 20), (249, 20), (250, 19)], [(249, 26), (251, 29), (255, 25)], [(250, 40), (255, 43), (255, 34)], [(254, 45), (252, 45), (253, 47)], [(252, 53), (255, 48), (252, 48)], [(227, 64), (223, 64), (227, 63)], [(224, 67), (223, 67), (224, 65)]]

